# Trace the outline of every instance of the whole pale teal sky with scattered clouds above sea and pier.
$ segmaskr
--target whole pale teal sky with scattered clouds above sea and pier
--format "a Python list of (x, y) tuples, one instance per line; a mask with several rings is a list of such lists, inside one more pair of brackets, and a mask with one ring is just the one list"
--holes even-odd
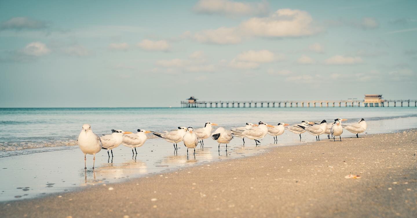
[(0, 107), (416, 99), (417, 1), (0, 1)]

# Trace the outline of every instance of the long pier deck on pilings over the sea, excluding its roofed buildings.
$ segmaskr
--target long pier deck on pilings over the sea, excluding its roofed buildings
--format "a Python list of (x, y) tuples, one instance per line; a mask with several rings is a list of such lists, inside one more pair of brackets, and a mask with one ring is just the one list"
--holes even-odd
[[(390, 104), (391, 103), (391, 104)], [(417, 100), (306, 100), (306, 101), (181, 101), (181, 108), (315, 108), (315, 107), (417, 107)]]

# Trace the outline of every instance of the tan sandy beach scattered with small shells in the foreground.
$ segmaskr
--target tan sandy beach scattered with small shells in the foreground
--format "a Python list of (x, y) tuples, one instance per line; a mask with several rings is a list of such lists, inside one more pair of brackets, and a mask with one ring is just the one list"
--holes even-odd
[[(271, 148), (0, 204), (1, 217), (417, 217), (417, 130)], [(346, 175), (361, 178), (345, 178)]]

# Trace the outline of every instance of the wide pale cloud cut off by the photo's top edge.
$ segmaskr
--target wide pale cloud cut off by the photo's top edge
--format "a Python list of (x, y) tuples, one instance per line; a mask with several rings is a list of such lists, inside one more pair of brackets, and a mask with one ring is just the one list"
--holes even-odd
[(230, 0), (200, 0), (193, 10), (201, 14), (263, 15), (269, 12), (267, 2), (244, 3)]

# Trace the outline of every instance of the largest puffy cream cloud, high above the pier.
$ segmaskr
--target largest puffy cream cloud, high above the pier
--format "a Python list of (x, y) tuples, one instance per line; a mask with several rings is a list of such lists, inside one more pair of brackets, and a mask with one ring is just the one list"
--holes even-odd
[(280, 9), (266, 18), (250, 18), (239, 29), (247, 35), (262, 37), (296, 37), (317, 33), (313, 18), (306, 11)]

